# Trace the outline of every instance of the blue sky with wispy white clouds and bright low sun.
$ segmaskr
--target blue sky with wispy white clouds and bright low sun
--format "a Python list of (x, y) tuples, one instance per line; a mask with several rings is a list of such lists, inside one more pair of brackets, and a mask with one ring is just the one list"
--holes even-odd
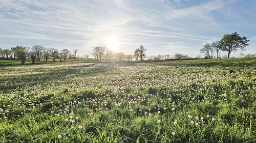
[(204, 44), (234, 32), (250, 42), (230, 56), (255, 54), (256, 1), (0, 0), (2, 49), (44, 45), (83, 56), (96, 46), (132, 54), (143, 45), (148, 56), (196, 57)]

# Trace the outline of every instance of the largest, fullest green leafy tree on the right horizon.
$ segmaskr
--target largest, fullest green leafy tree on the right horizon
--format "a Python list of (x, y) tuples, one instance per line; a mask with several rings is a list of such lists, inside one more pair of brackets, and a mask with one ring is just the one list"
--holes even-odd
[(225, 34), (220, 41), (220, 49), (227, 51), (227, 58), (229, 58), (232, 51), (236, 52), (238, 49), (245, 50), (245, 47), (249, 45), (248, 42), (249, 40), (245, 36), (242, 38), (237, 32)]

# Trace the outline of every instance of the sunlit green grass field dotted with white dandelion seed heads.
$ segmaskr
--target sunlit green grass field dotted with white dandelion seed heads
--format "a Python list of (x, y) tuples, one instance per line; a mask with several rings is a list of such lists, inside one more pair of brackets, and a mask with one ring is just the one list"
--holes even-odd
[(256, 58), (0, 67), (0, 142), (256, 142)]

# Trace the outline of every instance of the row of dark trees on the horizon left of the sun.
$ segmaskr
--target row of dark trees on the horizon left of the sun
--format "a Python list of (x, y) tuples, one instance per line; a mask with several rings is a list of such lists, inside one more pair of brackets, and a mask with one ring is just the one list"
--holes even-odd
[(47, 63), (50, 58), (53, 59), (53, 62), (55, 62), (55, 59), (57, 58), (63, 58), (64, 62), (66, 62), (68, 57), (76, 59), (77, 62), (77, 52), (77, 49), (74, 49), (72, 54), (68, 49), (59, 51), (56, 48), (45, 48), (42, 45), (33, 45), (31, 48), (25, 46), (11, 47), (11, 49), (0, 48), (0, 55), (2, 58), (21, 60), (22, 65), (25, 64), (27, 58), (32, 60), (32, 64), (34, 64), (35, 61), (41, 61), (41, 59), (44, 59)]

